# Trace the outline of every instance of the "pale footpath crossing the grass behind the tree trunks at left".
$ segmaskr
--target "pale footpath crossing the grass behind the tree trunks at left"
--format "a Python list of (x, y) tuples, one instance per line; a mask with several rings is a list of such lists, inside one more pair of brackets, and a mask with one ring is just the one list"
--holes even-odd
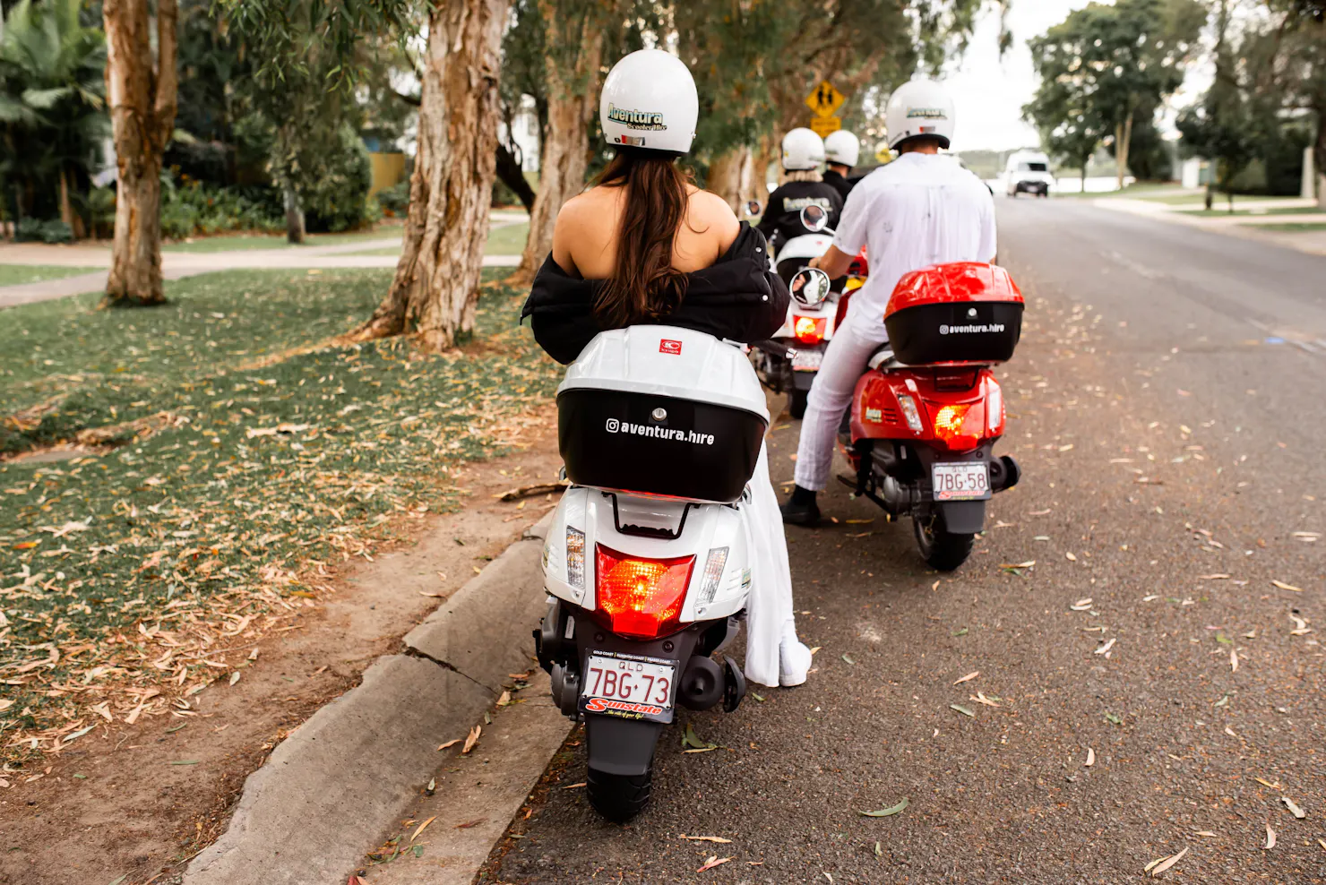
[[(513, 216), (514, 217), (514, 216)], [(524, 217), (524, 216), (521, 216)], [(505, 227), (505, 216), (493, 216), (493, 227)], [(339, 269), (339, 268), (395, 268), (396, 256), (357, 254), (371, 249), (385, 249), (400, 245), (399, 237), (382, 240), (359, 240), (357, 242), (337, 242), (325, 246), (236, 249), (233, 252), (163, 252), (162, 276), (166, 280), (180, 280), (200, 273), (216, 270), (281, 270), (281, 269)], [(29, 282), (19, 286), (0, 286), (0, 310), (54, 298), (68, 298), (85, 291), (106, 287), (106, 268), (110, 266), (109, 246), (49, 246), (41, 244), (3, 244), (0, 264), (12, 265), (56, 265), (62, 268), (88, 268), (86, 274)], [(485, 268), (514, 268), (520, 256), (484, 256)]]

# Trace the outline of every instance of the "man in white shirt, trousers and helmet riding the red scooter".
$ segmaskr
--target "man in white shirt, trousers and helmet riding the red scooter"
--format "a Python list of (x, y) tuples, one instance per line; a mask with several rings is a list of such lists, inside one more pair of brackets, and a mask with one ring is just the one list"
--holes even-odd
[(936, 82), (914, 79), (884, 111), (888, 146), (899, 158), (863, 178), (847, 197), (834, 244), (812, 262), (830, 277), (847, 273), (866, 248), (870, 278), (851, 297), (815, 375), (801, 423), (796, 488), (784, 522), (819, 521), (815, 494), (829, 482), (843, 412), (871, 354), (888, 342), (884, 310), (894, 286), (912, 270), (949, 261), (993, 261), (994, 201), (989, 188), (952, 156), (953, 101)]

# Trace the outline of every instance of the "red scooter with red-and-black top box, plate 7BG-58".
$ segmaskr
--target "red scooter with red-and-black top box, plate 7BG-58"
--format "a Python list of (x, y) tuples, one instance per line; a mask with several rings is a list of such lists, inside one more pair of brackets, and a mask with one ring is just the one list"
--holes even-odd
[[(817, 273), (806, 270), (804, 273)], [(991, 367), (1013, 355), (1022, 294), (1002, 268), (959, 262), (903, 277), (888, 301), (888, 344), (857, 383), (839, 443), (854, 489), (910, 515), (920, 554), (953, 571), (985, 527), (985, 502), (1021, 470), (994, 456), (1004, 393)]]

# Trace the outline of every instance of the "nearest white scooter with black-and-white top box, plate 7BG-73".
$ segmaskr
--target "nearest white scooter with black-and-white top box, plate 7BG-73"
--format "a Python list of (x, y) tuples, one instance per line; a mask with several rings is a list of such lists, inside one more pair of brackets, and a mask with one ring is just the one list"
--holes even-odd
[(769, 412), (740, 346), (671, 326), (601, 333), (557, 411), (572, 488), (534, 640), (553, 701), (585, 721), (589, 802), (622, 821), (648, 803), (676, 705), (732, 711), (745, 696), (736, 661), (712, 656), (751, 591), (743, 509)]

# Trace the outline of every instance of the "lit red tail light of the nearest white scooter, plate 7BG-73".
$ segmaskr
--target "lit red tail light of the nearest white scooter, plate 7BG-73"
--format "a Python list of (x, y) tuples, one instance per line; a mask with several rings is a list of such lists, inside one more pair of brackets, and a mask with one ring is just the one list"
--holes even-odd
[(630, 639), (658, 639), (682, 625), (695, 556), (642, 559), (595, 545), (595, 615)]

